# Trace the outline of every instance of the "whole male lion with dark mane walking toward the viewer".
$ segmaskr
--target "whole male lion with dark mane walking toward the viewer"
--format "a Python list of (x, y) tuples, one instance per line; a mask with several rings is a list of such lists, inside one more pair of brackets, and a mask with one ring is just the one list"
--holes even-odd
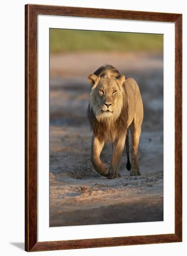
[[(126, 141), (127, 170), (130, 175), (140, 175), (138, 144), (143, 121), (143, 103), (140, 89), (133, 78), (125, 78), (119, 71), (105, 65), (88, 75), (91, 84), (88, 118), (92, 137), (91, 161), (95, 170), (107, 179), (120, 177), (120, 158)], [(128, 152), (128, 128), (132, 136), (132, 169)], [(105, 143), (112, 142), (113, 155), (108, 168), (100, 153)]]

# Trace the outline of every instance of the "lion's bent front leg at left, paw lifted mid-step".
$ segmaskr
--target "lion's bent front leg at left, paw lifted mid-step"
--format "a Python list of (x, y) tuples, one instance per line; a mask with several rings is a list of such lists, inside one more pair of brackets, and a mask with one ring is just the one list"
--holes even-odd
[(108, 174), (107, 165), (100, 160), (100, 153), (103, 149), (104, 144), (105, 144), (104, 141), (102, 142), (99, 141), (99, 139), (93, 135), (91, 161), (96, 172), (98, 172), (102, 176), (107, 177), (107, 174)]

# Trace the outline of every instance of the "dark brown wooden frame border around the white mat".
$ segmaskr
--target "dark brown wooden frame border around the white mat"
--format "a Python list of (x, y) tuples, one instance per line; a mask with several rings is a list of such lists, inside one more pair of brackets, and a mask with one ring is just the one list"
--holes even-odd
[[(37, 15), (175, 23), (175, 232), (37, 242)], [(182, 14), (46, 5), (25, 6), (25, 250), (44, 251), (182, 241)]]

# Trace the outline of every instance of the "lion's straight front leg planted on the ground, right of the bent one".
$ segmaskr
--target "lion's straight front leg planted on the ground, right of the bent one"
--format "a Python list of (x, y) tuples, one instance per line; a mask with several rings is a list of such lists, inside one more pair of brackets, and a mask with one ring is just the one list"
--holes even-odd
[(113, 144), (113, 155), (111, 166), (108, 171), (107, 179), (114, 179), (120, 177), (120, 160), (125, 145), (126, 135), (120, 137)]

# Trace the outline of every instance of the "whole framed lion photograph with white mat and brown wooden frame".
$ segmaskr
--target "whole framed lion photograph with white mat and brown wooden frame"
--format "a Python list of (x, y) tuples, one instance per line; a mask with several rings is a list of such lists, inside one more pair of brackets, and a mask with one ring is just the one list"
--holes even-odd
[(25, 250), (182, 241), (182, 14), (25, 6)]

